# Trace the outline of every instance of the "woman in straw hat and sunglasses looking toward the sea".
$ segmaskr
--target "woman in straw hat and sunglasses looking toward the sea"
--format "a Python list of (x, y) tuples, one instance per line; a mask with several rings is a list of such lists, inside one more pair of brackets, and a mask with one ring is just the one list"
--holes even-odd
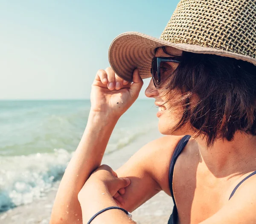
[[(91, 223), (135, 223), (126, 210), (161, 190), (175, 204), (169, 224), (256, 223), (255, 33), (253, 0), (181, 0), (160, 39), (119, 35), (112, 68), (93, 82), (51, 224), (87, 223), (111, 206), (125, 210), (103, 210)], [(149, 75), (145, 95), (155, 99), (166, 136), (113, 172), (100, 166), (106, 145)]]

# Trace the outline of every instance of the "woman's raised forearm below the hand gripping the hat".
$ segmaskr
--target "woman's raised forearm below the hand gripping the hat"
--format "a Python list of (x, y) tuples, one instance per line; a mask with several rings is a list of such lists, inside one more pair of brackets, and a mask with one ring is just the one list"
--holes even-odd
[(97, 169), (117, 119), (91, 112), (81, 141), (62, 177), (52, 209), (51, 224), (82, 223), (77, 195)]

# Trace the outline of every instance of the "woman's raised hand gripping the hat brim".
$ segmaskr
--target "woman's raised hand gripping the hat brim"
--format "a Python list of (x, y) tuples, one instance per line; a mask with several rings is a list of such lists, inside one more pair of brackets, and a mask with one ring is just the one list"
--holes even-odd
[(136, 69), (133, 73), (133, 83), (117, 76), (111, 67), (99, 70), (92, 84), (91, 111), (103, 112), (117, 119), (138, 98), (143, 80)]

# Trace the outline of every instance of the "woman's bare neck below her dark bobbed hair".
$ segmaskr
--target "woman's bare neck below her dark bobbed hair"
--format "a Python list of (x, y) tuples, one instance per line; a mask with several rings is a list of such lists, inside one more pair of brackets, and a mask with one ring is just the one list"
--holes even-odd
[(256, 169), (256, 136), (237, 132), (231, 142), (216, 140), (209, 148), (205, 138), (196, 138), (202, 163), (216, 177), (245, 174)]

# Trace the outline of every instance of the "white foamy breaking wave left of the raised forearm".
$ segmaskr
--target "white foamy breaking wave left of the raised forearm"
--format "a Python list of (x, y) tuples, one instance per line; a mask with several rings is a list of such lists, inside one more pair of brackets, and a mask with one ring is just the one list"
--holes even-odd
[(0, 212), (41, 198), (60, 180), (72, 154), (53, 153), (0, 157)]

